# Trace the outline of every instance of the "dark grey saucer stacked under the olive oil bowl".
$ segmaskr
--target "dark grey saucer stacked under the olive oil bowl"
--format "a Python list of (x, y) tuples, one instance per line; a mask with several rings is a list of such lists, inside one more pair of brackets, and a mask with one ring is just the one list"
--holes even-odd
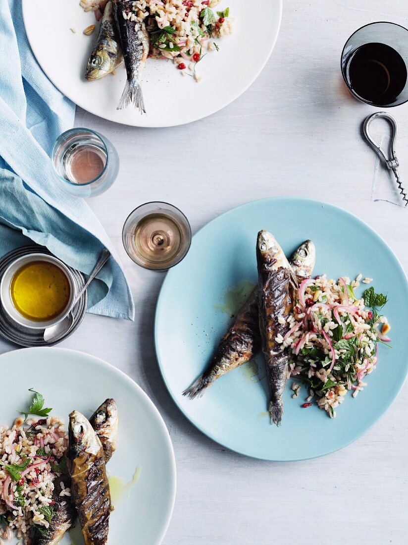
[[(10, 263), (12, 263), (18, 257), (26, 256), (28, 253), (33, 252), (51, 255), (51, 252), (44, 246), (32, 245), (17, 248), (16, 250), (13, 250), (0, 258), (0, 279)], [(84, 285), (82, 273), (72, 269), (71, 267), (69, 267), (69, 269), (72, 272), (77, 291), (79, 291)], [(72, 323), (71, 328), (62, 336), (57, 338), (57, 340), (53, 343), (47, 343), (44, 341), (44, 329), (29, 329), (17, 324), (9, 317), (7, 312), (5, 312), (3, 305), (0, 302), (0, 335), (8, 341), (19, 344), (19, 346), (51, 346), (51, 344), (58, 344), (65, 338), (69, 337), (77, 329), (78, 325), (80, 325), (82, 322), (86, 310), (87, 292), (82, 295), (81, 299), (72, 310), (74, 322)]]

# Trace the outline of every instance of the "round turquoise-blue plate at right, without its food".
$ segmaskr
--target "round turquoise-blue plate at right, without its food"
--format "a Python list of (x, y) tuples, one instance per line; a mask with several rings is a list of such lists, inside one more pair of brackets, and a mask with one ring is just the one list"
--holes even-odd
[[(393, 348), (380, 346), (368, 386), (356, 398), (348, 394), (336, 419), (315, 405), (301, 408), (306, 391), (292, 399), (289, 383), (282, 426), (271, 426), (265, 413), (266, 381), (251, 378), (248, 364), (218, 379), (200, 399), (181, 395), (204, 371), (228, 328), (230, 317), (217, 310), (226, 292), (243, 280), (257, 280), (255, 241), (260, 229), (271, 231), (287, 253), (312, 239), (317, 252), (314, 274), (354, 278), (361, 272), (374, 278), (378, 292), (388, 294), (385, 314)], [(194, 236), (184, 261), (167, 273), (156, 310), (157, 359), (180, 410), (217, 443), (266, 460), (323, 456), (360, 437), (398, 395), (408, 372), (407, 304), (408, 282), (398, 259), (361, 220), (321, 202), (264, 199), (211, 221)], [(263, 374), (261, 356), (257, 361)]]

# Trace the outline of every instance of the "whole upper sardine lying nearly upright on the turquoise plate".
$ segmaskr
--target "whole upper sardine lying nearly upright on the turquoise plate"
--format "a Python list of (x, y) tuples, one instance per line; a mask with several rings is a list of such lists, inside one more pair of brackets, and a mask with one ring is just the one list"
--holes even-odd
[[(287, 318), (291, 311), (290, 286), (297, 280), (281, 246), (273, 235), (260, 231), (257, 240), (259, 330), (265, 357), (271, 401), (271, 423), (281, 425), (283, 391), (288, 375), (289, 355), (275, 338), (289, 331)], [(283, 324), (279, 318), (284, 318)]]

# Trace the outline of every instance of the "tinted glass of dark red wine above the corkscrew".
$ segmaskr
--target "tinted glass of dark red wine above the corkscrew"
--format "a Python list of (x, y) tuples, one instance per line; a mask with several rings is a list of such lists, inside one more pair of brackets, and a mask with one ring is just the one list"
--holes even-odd
[(342, 74), (358, 100), (389, 108), (408, 100), (408, 30), (389, 22), (370, 23), (347, 40)]

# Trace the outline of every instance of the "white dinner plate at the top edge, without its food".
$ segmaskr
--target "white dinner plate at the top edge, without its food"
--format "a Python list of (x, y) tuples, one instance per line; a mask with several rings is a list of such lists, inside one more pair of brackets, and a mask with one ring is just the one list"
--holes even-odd
[(91, 36), (83, 34), (84, 28), (96, 23), (92, 11), (84, 13), (75, 0), (22, 0), (22, 5), (29, 43), (54, 85), (96, 116), (141, 127), (190, 123), (238, 98), (269, 59), (282, 16), (282, 0), (257, 0), (253, 5), (222, 0), (218, 9), (229, 6), (234, 33), (217, 40), (220, 51), (211, 51), (197, 66), (202, 81), (181, 77), (170, 61), (148, 59), (142, 75), (147, 114), (141, 116), (133, 108), (116, 110), (126, 81), (123, 65), (116, 76), (94, 82), (84, 78), (98, 34), (97, 29)]

